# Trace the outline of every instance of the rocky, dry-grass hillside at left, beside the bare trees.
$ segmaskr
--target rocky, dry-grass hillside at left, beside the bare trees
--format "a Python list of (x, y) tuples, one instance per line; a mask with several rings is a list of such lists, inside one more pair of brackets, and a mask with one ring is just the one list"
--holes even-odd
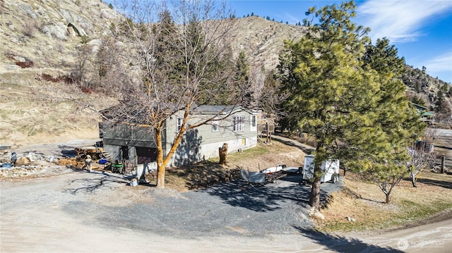
[(0, 1), (0, 144), (98, 135), (97, 116), (76, 101), (107, 99), (85, 96), (63, 77), (81, 36), (95, 43), (120, 18), (102, 1)]

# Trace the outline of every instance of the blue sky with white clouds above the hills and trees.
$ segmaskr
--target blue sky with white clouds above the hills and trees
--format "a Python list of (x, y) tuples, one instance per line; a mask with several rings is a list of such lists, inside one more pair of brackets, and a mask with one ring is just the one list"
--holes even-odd
[[(254, 13), (283, 23), (296, 24), (311, 6), (321, 8), (343, 1), (230, 0), (237, 18)], [(372, 42), (387, 37), (398, 55), (415, 68), (445, 82), (452, 82), (452, 1), (451, 0), (367, 0), (355, 1), (355, 23), (370, 27)]]

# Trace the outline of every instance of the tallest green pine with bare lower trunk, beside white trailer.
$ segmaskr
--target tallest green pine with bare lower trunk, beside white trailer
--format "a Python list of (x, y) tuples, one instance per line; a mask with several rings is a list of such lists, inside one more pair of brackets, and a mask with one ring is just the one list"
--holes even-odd
[(285, 42), (279, 70), (283, 92), (290, 94), (283, 107), (285, 120), (316, 138), (314, 178), (309, 204), (319, 209), (321, 163), (332, 158), (337, 140), (351, 132), (352, 122), (363, 121), (359, 111), (375, 101), (371, 98), (378, 85), (372, 73), (362, 71), (367, 32), (351, 22), (355, 5), (344, 3), (320, 10), (309, 8), (309, 15), (319, 16), (318, 25), (299, 42)]

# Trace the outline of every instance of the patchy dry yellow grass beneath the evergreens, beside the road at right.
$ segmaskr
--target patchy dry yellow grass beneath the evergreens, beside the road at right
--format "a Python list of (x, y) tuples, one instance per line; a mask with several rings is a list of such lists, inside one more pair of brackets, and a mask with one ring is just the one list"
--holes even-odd
[[(345, 187), (331, 196), (323, 208), (324, 221), (316, 228), (326, 232), (341, 230), (384, 230), (419, 223), (452, 208), (452, 175), (422, 173), (417, 187), (403, 180), (391, 193), (391, 204), (375, 184), (347, 173)], [(347, 216), (356, 221), (348, 221)]]

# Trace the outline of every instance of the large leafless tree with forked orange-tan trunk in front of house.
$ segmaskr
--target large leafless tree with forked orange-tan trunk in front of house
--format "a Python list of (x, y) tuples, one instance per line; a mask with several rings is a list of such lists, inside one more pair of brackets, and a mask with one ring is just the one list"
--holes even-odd
[[(121, 74), (118, 104), (105, 116), (149, 126), (157, 147), (157, 187), (163, 188), (165, 168), (184, 132), (223, 113), (189, 125), (198, 106), (237, 104), (226, 36), (234, 20), (227, 18), (225, 4), (218, 1), (174, 1), (169, 7), (151, 1), (124, 2), (129, 19), (114, 26), (117, 45), (122, 47), (116, 55)], [(184, 111), (180, 128), (164, 152), (166, 120), (179, 111)]]

